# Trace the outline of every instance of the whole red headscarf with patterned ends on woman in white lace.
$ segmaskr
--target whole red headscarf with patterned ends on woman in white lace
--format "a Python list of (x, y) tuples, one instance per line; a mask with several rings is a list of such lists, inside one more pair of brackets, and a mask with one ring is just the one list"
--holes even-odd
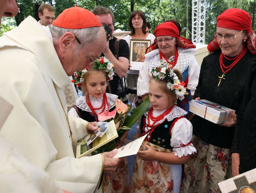
[[(196, 48), (196, 46), (193, 45), (190, 40), (180, 36), (178, 27), (172, 21), (159, 24), (154, 31), (154, 35), (156, 38), (160, 35), (169, 35), (175, 37), (177, 39), (177, 46), (183, 49)], [(149, 53), (152, 50), (156, 50), (157, 48), (158, 45), (155, 39), (154, 43), (152, 43), (151, 46), (146, 49), (146, 53)]]

